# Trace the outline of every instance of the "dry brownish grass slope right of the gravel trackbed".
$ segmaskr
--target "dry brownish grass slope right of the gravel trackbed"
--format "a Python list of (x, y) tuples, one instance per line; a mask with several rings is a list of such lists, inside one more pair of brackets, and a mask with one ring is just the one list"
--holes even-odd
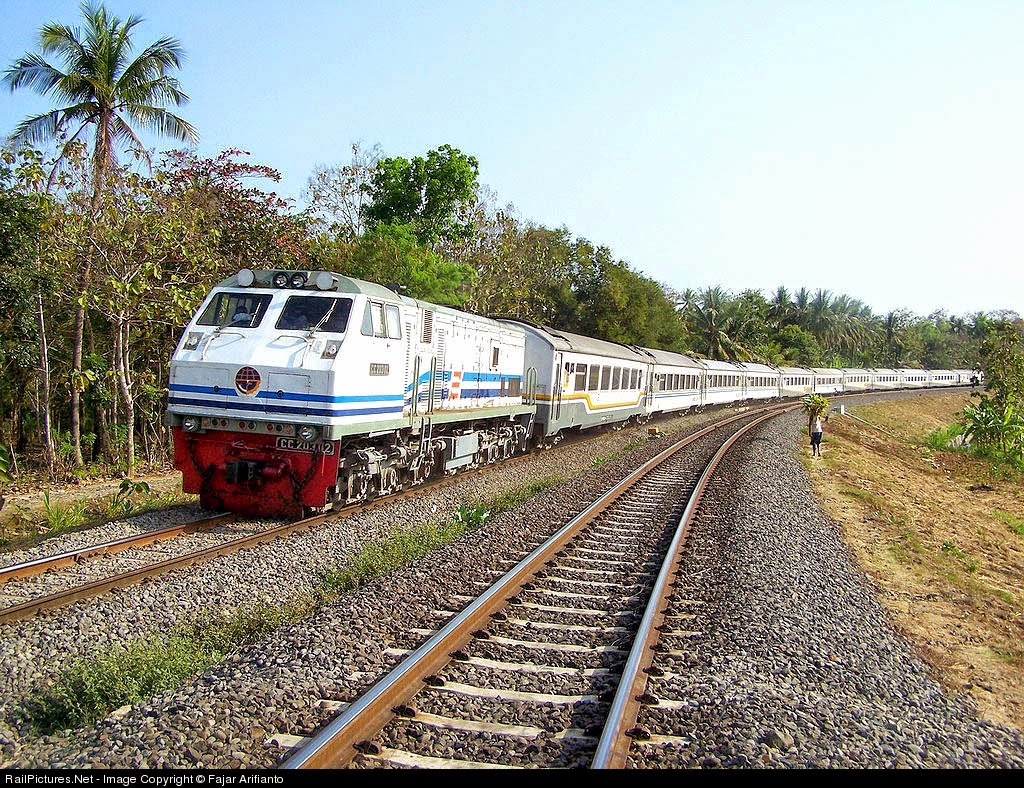
[[(927, 435), (972, 400), (922, 394), (834, 413), (808, 467), (895, 625), (988, 719), (1024, 729), (1021, 477)], [(876, 429), (878, 428), (878, 429)]]

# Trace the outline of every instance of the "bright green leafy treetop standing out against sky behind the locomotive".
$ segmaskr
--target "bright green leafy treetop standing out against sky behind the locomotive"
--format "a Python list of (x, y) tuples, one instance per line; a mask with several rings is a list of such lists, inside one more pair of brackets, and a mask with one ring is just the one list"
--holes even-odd
[(479, 165), (451, 145), (426, 158), (381, 159), (360, 188), (371, 202), (361, 207), (369, 227), (409, 225), (421, 244), (457, 243), (473, 233), (465, 214), (473, 207)]

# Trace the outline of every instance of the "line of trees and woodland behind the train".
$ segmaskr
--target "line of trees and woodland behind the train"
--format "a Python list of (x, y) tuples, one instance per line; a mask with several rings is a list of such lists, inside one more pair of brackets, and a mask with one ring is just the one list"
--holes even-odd
[(309, 178), (302, 211), (238, 150), (167, 152), (144, 175), (114, 163), (102, 189), (85, 146), (61, 150), (56, 169), (28, 146), (0, 166), (0, 443), (54, 475), (167, 463), (169, 356), (242, 267), (326, 269), (615, 342), (804, 366), (974, 367), (1007, 317), (876, 315), (822, 290), (674, 291), (496, 207), (476, 160), (447, 145), (411, 160), (353, 145)]

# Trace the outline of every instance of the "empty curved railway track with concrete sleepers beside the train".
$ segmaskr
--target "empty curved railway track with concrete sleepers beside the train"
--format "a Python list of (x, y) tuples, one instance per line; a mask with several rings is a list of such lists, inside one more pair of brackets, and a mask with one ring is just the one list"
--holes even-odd
[(616, 768), (634, 737), (671, 743), (636, 718), (656, 700), (659, 641), (693, 616), (672, 589), (688, 523), (729, 447), (794, 407), (725, 420), (635, 471), (461, 611), (437, 611), (447, 622), (364, 696), (324, 701), (340, 714), (314, 737), (274, 737), (295, 749), (284, 768)]

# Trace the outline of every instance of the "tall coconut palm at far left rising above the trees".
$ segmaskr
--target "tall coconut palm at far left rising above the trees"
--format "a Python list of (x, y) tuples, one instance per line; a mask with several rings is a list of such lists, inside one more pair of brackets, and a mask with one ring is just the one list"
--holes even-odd
[[(108, 16), (106, 9), (90, 2), (81, 5), (85, 28), (49, 23), (39, 31), (39, 52), (29, 52), (4, 72), (3, 82), (13, 91), (28, 87), (41, 95), (52, 95), (61, 104), (42, 115), (27, 118), (11, 135), (30, 143), (59, 139), (60, 155), (53, 173), (70, 146), (89, 130), (92, 132), (92, 194), (90, 221), (99, 212), (106, 180), (117, 164), (117, 148), (124, 145), (146, 161), (148, 155), (132, 128), (147, 128), (183, 142), (196, 142), (199, 135), (186, 121), (168, 112), (165, 105), (188, 101), (178, 81), (168, 71), (181, 65), (183, 52), (175, 39), (162, 38), (131, 58), (132, 33), (142, 21), (129, 16), (122, 21)], [(63, 70), (52, 65), (55, 55)], [(51, 181), (53, 176), (51, 175)], [(78, 307), (75, 314), (73, 379), (82, 371), (82, 340), (85, 331), (85, 294), (91, 271), (89, 258), (81, 261), (78, 276)], [(73, 384), (75, 380), (73, 380)], [(71, 432), (75, 463), (84, 465), (81, 445), (81, 393), (72, 385)]]

